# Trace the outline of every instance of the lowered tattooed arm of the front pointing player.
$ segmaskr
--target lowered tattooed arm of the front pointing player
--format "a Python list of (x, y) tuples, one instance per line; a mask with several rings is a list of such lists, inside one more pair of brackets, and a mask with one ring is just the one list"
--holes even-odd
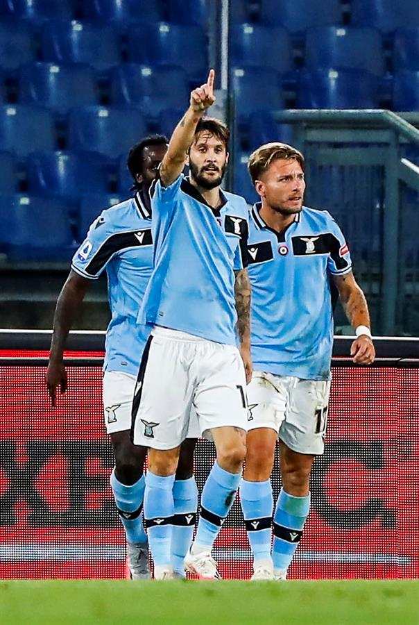
[(246, 370), (247, 383), (252, 379), (252, 358), (250, 356), (250, 298), (252, 288), (247, 269), (239, 269), (234, 272), (234, 296), (237, 310), (237, 334), (240, 341), (240, 353)]

